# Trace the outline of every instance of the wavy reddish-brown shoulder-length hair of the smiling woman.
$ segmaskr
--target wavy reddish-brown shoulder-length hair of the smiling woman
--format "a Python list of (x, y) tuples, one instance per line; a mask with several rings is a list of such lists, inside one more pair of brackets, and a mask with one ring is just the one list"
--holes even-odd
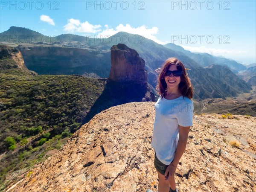
[(194, 90), (193, 90), (191, 81), (189, 79), (189, 76), (186, 73), (184, 64), (175, 57), (166, 59), (166, 61), (163, 63), (163, 66), (156, 70), (157, 73), (159, 73), (160, 71), (157, 77), (158, 82), (156, 86), (156, 90), (158, 94), (160, 94), (162, 97), (165, 96), (166, 94), (167, 84), (164, 77), (165, 77), (166, 71), (169, 69), (171, 65), (175, 65), (177, 67), (177, 70), (180, 70), (183, 72), (182, 76), (180, 76), (180, 84), (179, 84), (180, 93), (183, 96), (186, 96), (187, 98), (192, 99)]

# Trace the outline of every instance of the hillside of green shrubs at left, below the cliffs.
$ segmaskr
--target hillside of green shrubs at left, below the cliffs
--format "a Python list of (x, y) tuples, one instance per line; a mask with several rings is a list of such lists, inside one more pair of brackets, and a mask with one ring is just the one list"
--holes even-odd
[[(10, 61), (11, 62), (11, 61)], [(106, 79), (0, 73), (0, 189), (6, 176), (60, 149), (101, 95)], [(1, 154), (3, 154), (1, 152)], [(7, 174), (7, 175), (6, 175)]]

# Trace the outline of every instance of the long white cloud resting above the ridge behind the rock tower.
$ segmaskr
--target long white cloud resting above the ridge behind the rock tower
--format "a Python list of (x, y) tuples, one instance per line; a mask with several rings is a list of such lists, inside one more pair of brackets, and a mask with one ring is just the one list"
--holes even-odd
[[(106, 25), (105, 25), (106, 27)], [(162, 41), (158, 40), (154, 35), (158, 33), (157, 27), (152, 27), (151, 29), (147, 29), (145, 25), (139, 26), (137, 28), (131, 27), (129, 24), (126, 24), (125, 26), (123, 24), (119, 24), (119, 26), (116, 26), (115, 29), (109, 29), (108, 26), (107, 29), (103, 30), (97, 35), (97, 38), (104, 38), (111, 35), (115, 35), (117, 32), (128, 32), (131, 34), (137, 34), (141, 35), (145, 38), (151, 39), (155, 41), (158, 44), (165, 44)]]

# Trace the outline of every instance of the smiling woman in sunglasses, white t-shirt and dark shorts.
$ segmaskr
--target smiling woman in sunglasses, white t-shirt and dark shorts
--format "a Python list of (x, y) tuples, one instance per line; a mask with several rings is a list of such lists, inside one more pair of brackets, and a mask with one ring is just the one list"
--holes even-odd
[(193, 119), (193, 87), (185, 67), (177, 58), (169, 58), (158, 76), (160, 94), (155, 103), (151, 146), (155, 150), (159, 192), (177, 192), (175, 170), (185, 151)]

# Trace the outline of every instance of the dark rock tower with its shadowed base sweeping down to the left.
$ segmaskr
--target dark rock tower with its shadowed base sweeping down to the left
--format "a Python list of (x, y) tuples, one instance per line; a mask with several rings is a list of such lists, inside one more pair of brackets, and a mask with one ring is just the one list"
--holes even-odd
[(102, 95), (87, 113), (84, 123), (100, 111), (115, 105), (154, 100), (154, 93), (147, 82), (145, 61), (125, 44), (113, 45), (108, 82)]

